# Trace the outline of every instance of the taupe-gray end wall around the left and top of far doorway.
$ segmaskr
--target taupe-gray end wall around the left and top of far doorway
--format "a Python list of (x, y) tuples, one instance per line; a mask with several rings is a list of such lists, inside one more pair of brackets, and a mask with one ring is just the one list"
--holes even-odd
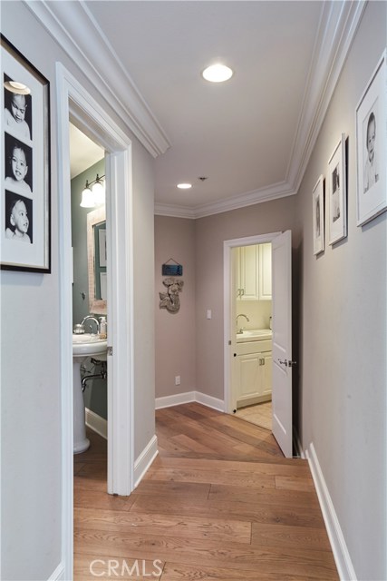
[[(224, 398), (223, 241), (294, 229), (295, 196), (196, 221), (198, 391)], [(206, 319), (208, 309), (211, 320)]]

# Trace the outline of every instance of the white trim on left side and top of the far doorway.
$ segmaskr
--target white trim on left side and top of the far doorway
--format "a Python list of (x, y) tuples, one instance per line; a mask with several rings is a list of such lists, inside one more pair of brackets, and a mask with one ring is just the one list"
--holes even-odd
[(235, 238), (223, 241), (223, 304), (224, 304), (224, 409), (227, 413), (232, 413), (231, 400), (231, 357), (229, 341), (232, 340), (234, 330), (231, 320), (231, 251), (238, 246), (250, 246), (251, 244), (263, 244), (273, 241), (281, 232), (270, 232), (268, 234), (256, 234), (246, 238)]

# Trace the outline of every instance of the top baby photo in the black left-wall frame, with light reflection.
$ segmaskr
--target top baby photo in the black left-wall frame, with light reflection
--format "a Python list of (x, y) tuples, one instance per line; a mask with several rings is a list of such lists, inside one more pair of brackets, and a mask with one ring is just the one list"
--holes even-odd
[(5, 131), (29, 142), (33, 138), (31, 94), (29, 89), (16, 93), (14, 85), (15, 81), (4, 74)]

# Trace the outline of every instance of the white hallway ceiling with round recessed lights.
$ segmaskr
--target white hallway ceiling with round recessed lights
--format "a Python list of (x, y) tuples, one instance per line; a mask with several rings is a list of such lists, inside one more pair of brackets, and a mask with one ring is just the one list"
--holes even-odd
[[(332, 68), (324, 63), (334, 52), (326, 28), (341, 34), (328, 5), (337, 12), (317, 0), (82, 3), (91, 26), (84, 52), (103, 45), (116, 67), (117, 101), (134, 94), (166, 143), (155, 154), (159, 213), (195, 217), (295, 193), (310, 141), (305, 115), (313, 126), (308, 109), (321, 105), (311, 79)], [(201, 78), (214, 60), (234, 69), (226, 84)], [(193, 188), (181, 192), (178, 182)]]

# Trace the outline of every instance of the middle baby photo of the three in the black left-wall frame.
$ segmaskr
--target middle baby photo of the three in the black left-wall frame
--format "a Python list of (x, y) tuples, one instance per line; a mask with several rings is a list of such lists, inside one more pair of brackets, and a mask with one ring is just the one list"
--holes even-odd
[(33, 192), (33, 150), (5, 133), (5, 188), (31, 195)]

